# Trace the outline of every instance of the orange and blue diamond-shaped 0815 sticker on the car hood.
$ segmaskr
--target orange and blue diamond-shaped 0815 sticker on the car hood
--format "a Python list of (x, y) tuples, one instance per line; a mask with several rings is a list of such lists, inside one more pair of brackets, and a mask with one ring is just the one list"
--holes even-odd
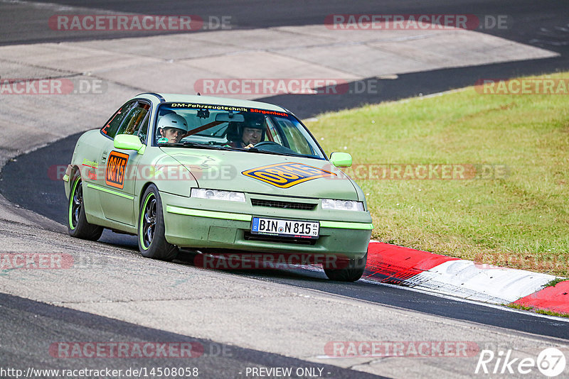
[(319, 177), (336, 176), (333, 172), (293, 162), (252, 168), (241, 173), (279, 188), (289, 188)]

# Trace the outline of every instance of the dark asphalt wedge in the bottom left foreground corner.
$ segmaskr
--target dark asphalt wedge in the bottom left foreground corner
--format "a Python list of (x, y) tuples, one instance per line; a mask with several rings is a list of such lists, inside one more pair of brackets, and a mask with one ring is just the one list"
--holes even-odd
[[(125, 359), (100, 356), (83, 359), (80, 367), (91, 370), (108, 367), (124, 372), (129, 368), (147, 368), (149, 371), (158, 367), (191, 367), (198, 368), (199, 378), (238, 378), (245, 377), (248, 367), (267, 366), (287, 367), (293, 371), (299, 368), (323, 368), (324, 376), (333, 378), (350, 379), (355, 375), (358, 378), (378, 378), (377, 375), (194, 339), (12, 295), (0, 294), (0, 304), (2, 329), (5, 331), (0, 356), (4, 367), (17, 367), (18, 363), (24, 361), (31, 368), (45, 370), (72, 366), (65, 358), (57, 358), (57, 349), (50, 350), (50, 357), (46, 359), (46, 351), (50, 349), (50, 343), (46, 341), (53, 341), (54, 331), (57, 331), (59, 341), (128, 341), (141, 346), (147, 342), (164, 344), (164, 341), (175, 341), (175, 344), (191, 344), (193, 351), (196, 351), (196, 356), (192, 355), (191, 358)], [(22, 341), (26, 341), (25, 346), (22, 346)], [(300, 375), (298, 378), (308, 376)]]

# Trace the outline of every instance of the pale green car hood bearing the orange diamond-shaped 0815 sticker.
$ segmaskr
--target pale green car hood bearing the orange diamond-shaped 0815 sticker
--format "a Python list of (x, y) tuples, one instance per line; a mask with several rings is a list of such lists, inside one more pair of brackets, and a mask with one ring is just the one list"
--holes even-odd
[(358, 200), (352, 181), (328, 160), (191, 148), (161, 150), (190, 170), (201, 188)]

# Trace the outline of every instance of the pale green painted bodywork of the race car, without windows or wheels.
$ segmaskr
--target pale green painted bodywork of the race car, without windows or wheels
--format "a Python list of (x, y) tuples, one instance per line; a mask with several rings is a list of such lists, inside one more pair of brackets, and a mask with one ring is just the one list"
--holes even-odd
[[(188, 112), (191, 111), (191, 107), (186, 106), (188, 104), (222, 104), (288, 114), (279, 106), (257, 101), (177, 94), (161, 94), (161, 96), (164, 97), (165, 103), (184, 104), (176, 107), (178, 109), (175, 111), (185, 112), (188, 125), (189, 121), (194, 121), (188, 116)], [(153, 94), (140, 94), (136, 99), (146, 99), (151, 105), (151, 115), (158, 114), (156, 107), (165, 104)], [(211, 113), (214, 113), (213, 109)], [(101, 170), (102, 175), (97, 172), (97, 177), (85, 177), (83, 197), (87, 201), (83, 202), (83, 211), (90, 224), (129, 234), (140, 234), (139, 224), (142, 215), (138, 213), (138, 207), (151, 199), (143, 198), (139, 201), (138, 197), (144, 194), (144, 189), (149, 184), (153, 184), (158, 189), (161, 206), (164, 209), (164, 238), (167, 242), (182, 248), (230, 248), (260, 252), (312, 251), (324, 254), (343, 253), (351, 258), (361, 258), (366, 253), (373, 226), (365, 196), (356, 182), (335, 167), (330, 160), (309, 155), (263, 154), (248, 150), (216, 150), (191, 145), (156, 143), (161, 138), (156, 130), (158, 121), (155, 116), (149, 120), (147, 138), (142, 142), (145, 153), (142, 154), (142, 150), (139, 150), (139, 153), (129, 152), (130, 158), (124, 174), (123, 189), (105, 185), (105, 177), (102, 175), (105, 175), (106, 170)], [(193, 125), (201, 125), (202, 121), (196, 118)], [(203, 136), (205, 134), (200, 138)], [(219, 138), (221, 148), (223, 144), (228, 144), (224, 138)], [(103, 169), (108, 164), (102, 161), (103, 153), (105, 151), (110, 153), (114, 148), (114, 140), (108, 134), (101, 133), (100, 130), (87, 131), (79, 138), (75, 147), (76, 153), (70, 164), (73, 167), (81, 167), (84, 162), (88, 164), (98, 161), (98, 166)], [(291, 165), (297, 169), (314, 167), (314, 170), (324, 170), (334, 175), (317, 177), (288, 188), (281, 188), (241, 174), (268, 165), (272, 167), (261, 175), (271, 176), (279, 182), (285, 182), (284, 179), (293, 176), (289, 170), (280, 170)], [(73, 192), (77, 189), (72, 179), (65, 183), (65, 187), (66, 193), (73, 197)], [(243, 192), (246, 201), (231, 202), (191, 197), (192, 188)], [(156, 197), (156, 192), (154, 196)], [(321, 199), (363, 202), (366, 211), (321, 209), (319, 205)], [(299, 203), (299, 207), (294, 207), (294, 203)], [(307, 204), (312, 207), (307, 207)], [(245, 235), (250, 233), (253, 216), (319, 221), (323, 231), (322, 238), (319, 238), (313, 246), (289, 241), (248, 239)], [(211, 241), (208, 238), (211, 226), (237, 229), (234, 240)], [(228, 238), (228, 241), (230, 240), (231, 238)], [(147, 248), (143, 249), (142, 246), (143, 243), (141, 251), (146, 251)]]

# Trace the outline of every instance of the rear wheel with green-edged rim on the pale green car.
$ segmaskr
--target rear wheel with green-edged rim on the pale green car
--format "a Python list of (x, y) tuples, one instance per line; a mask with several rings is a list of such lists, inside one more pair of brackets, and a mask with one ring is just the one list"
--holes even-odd
[(81, 180), (80, 172), (75, 172), (69, 192), (67, 231), (72, 237), (97, 241), (103, 229), (102, 226), (87, 222), (83, 202), (83, 180)]

